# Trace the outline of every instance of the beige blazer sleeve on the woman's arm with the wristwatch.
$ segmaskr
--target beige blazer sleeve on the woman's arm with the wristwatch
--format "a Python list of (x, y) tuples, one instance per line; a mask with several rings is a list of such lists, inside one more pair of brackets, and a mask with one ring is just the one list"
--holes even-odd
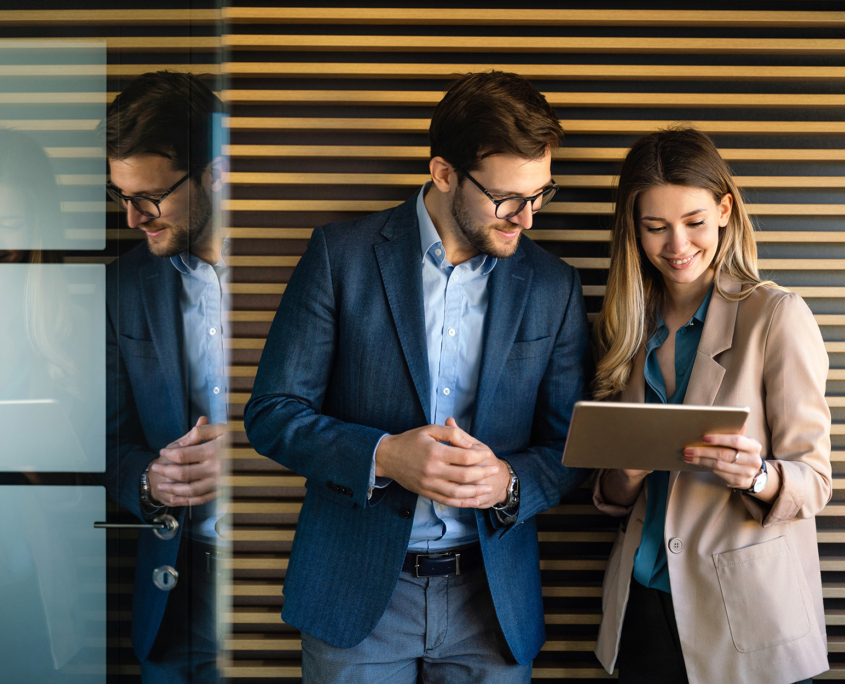
[(771, 504), (742, 497), (764, 527), (811, 518), (830, 500), (827, 373), (827, 352), (809, 307), (796, 294), (780, 298), (766, 337), (763, 389), (771, 431), (766, 465), (780, 475), (781, 488)]

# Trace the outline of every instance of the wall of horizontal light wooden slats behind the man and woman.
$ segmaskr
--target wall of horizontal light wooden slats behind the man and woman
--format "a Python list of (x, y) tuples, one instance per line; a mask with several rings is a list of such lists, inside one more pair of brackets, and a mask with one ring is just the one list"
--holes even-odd
[[(242, 431), (285, 283), (314, 225), (393, 206), (422, 184), (428, 120), (450, 76), (498, 68), (531, 78), (558, 108), (567, 138), (553, 175), (562, 190), (527, 236), (580, 269), (590, 312), (604, 292), (610, 187), (627, 147), (667, 123), (692, 121), (734, 168), (760, 229), (762, 268), (807, 299), (830, 354), (837, 479), (818, 527), (833, 669), (817, 679), (845, 682), (845, 12), (825, 2), (783, 2), (778, 11), (742, 1), (664, 5), (432, 10), (247, 1), (222, 12), (196, 3), (0, 12), (2, 36), (105, 37), (110, 97), (164, 66), (222, 77), (215, 86), (231, 113), (235, 248), (235, 554), (226, 590), (233, 681), (300, 677), (298, 634), (279, 612), (304, 482), (255, 454)], [(72, 104), (66, 112), (28, 125), (93, 125), (75, 120)], [(115, 214), (108, 236), (107, 256), (68, 261), (107, 261), (138, 239)], [(534, 678), (607, 678), (591, 651), (616, 521), (598, 514), (582, 490), (539, 522), (549, 639)], [(109, 606), (120, 662), (112, 671), (123, 682), (137, 672), (126, 664), (134, 542), (113, 539)]]

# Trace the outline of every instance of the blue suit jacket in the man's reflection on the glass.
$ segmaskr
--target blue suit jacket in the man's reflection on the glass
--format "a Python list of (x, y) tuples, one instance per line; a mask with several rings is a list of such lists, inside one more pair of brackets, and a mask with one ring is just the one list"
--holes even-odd
[[(182, 279), (146, 242), (106, 267), (106, 487), (112, 500), (144, 520), (138, 485), (150, 461), (190, 429), (182, 363)], [(132, 645), (142, 661), (153, 645), (167, 592), (153, 570), (176, 565), (184, 508), (171, 509), (179, 534), (163, 541), (141, 530), (132, 598)]]

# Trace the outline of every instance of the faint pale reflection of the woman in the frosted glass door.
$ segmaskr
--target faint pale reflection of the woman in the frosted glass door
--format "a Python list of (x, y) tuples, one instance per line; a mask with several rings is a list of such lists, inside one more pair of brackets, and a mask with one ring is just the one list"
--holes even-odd
[[(90, 429), (89, 374), (74, 362), (85, 356), (80, 345), (90, 349), (90, 317), (70, 302), (57, 256), (42, 249), (61, 219), (44, 151), (27, 135), (0, 129), (0, 423), (13, 423), (0, 470), (50, 469), (27, 454), (38, 453), (45, 435), (61, 427), (44, 424), (48, 415), (77, 432)], [(49, 400), (53, 412), (38, 413)], [(78, 454), (78, 442), (65, 443), (67, 451), (51, 454), (51, 463), (62, 463), (74, 446)], [(77, 464), (52, 469), (82, 469)], [(35, 473), (29, 478), (38, 481)], [(6, 495), (4, 505), (16, 503), (0, 528), (0, 604), (15, 627), (0, 639), (0, 680), (63, 681), (58, 670), (83, 647), (81, 575), (68, 534), (69, 521), (80, 519), (81, 495), (72, 487), (30, 486)]]

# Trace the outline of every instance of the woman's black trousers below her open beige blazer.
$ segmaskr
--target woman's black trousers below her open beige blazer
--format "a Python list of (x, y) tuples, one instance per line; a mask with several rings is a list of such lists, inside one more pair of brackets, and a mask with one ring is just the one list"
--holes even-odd
[(648, 589), (633, 577), (616, 665), (619, 684), (689, 683), (672, 596)]

